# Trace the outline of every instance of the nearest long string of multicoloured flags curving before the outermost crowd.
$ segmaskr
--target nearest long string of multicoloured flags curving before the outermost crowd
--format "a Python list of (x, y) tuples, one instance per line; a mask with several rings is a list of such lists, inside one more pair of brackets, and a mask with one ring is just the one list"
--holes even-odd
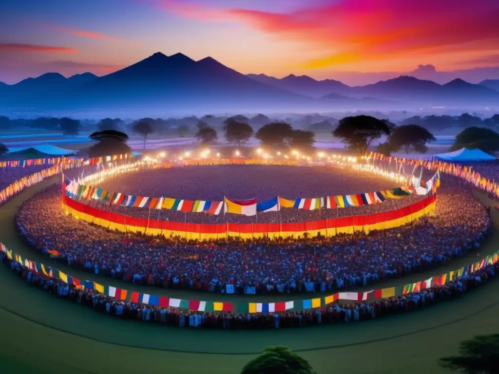
[(442, 286), (455, 281), (463, 276), (470, 276), (476, 271), (483, 269), (487, 265), (495, 264), (499, 261), (499, 250), (487, 257), (468, 266), (450, 271), (449, 273), (436, 275), (426, 280), (409, 283), (403, 287), (388, 287), (364, 292), (337, 292), (325, 297), (316, 297), (305, 300), (278, 301), (274, 303), (239, 303), (200, 301), (176, 299), (167, 296), (151, 295), (136, 291), (127, 291), (118, 287), (104, 286), (97, 282), (84, 280), (80, 281), (76, 277), (62, 272), (61, 270), (50, 268), (42, 263), (22, 259), (17, 253), (12, 253), (3, 243), (0, 242), (0, 251), (15, 262), (26, 268), (45, 275), (46, 277), (60, 280), (64, 283), (74, 285), (77, 288), (92, 290), (105, 294), (117, 300), (130, 301), (133, 303), (146, 304), (160, 308), (187, 309), (199, 312), (235, 312), (235, 313), (281, 313), (286, 311), (300, 311), (328, 306), (336, 301), (350, 302), (371, 302), (377, 299), (390, 298), (409, 293), (420, 292), (427, 288)]

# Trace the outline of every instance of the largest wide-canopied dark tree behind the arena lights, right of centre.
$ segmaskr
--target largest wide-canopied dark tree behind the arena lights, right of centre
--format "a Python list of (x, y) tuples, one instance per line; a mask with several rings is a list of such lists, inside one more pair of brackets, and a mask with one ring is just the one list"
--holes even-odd
[(340, 138), (359, 154), (366, 153), (373, 141), (383, 135), (390, 135), (390, 132), (386, 120), (364, 115), (342, 118), (338, 127), (332, 131), (333, 136)]

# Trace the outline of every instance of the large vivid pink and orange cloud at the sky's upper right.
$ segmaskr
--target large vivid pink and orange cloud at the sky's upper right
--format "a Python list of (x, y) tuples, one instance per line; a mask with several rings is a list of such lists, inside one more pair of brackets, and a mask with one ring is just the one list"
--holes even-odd
[(469, 49), (484, 39), (494, 48), (492, 40), (499, 37), (494, 1), (342, 0), (289, 13), (230, 9), (228, 14), (281, 39), (315, 46), (324, 57), (306, 68), (443, 53), (439, 48), (459, 51), (462, 44)]

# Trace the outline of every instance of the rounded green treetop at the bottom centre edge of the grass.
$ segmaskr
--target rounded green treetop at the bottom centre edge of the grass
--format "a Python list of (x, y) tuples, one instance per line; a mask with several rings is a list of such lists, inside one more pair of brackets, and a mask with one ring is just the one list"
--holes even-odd
[(288, 347), (268, 347), (241, 374), (315, 374), (310, 364)]

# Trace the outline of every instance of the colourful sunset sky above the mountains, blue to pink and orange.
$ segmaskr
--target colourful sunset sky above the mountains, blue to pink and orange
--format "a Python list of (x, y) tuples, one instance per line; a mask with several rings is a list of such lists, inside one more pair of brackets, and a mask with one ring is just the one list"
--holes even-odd
[(492, 0), (20, 0), (2, 4), (0, 17), (5, 83), (104, 75), (157, 51), (355, 84), (420, 64), (499, 67)]

